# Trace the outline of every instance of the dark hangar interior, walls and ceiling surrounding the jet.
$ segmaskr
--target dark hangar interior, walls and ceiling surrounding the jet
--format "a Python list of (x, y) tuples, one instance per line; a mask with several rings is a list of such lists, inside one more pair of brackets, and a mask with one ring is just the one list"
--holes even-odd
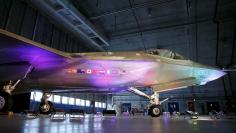
[[(170, 49), (202, 64), (235, 69), (235, 8), (235, 0), (0, 0), (0, 28), (66, 52)], [(171, 98), (163, 103), (169, 112), (232, 113), (235, 81), (236, 73), (229, 71), (206, 85), (163, 92), (160, 98)], [(36, 95), (41, 94), (31, 93), (31, 109)], [(84, 108), (87, 113), (94, 113), (90, 103), (96, 111), (144, 111), (148, 103), (128, 92), (55, 95), (61, 96), (59, 108)], [(75, 98), (74, 105), (65, 105), (62, 96)], [(84, 101), (77, 104), (76, 99)]]

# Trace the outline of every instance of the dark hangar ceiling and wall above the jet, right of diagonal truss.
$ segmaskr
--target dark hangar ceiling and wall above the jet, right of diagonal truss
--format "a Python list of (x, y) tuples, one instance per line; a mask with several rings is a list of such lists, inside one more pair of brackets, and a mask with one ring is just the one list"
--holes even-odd
[[(235, 0), (43, 1), (44, 12), (51, 5), (54, 12), (66, 13), (64, 19), (90, 25), (66, 26), (80, 29), (83, 33), (78, 38), (94, 28), (95, 36), (88, 36), (87, 43), (95, 42), (94, 47), (100, 46), (98, 51), (165, 48), (204, 64), (226, 67), (235, 62)], [(67, 7), (62, 8), (60, 3)], [(80, 21), (81, 16), (84, 21)], [(51, 19), (64, 23), (62, 18)]]

